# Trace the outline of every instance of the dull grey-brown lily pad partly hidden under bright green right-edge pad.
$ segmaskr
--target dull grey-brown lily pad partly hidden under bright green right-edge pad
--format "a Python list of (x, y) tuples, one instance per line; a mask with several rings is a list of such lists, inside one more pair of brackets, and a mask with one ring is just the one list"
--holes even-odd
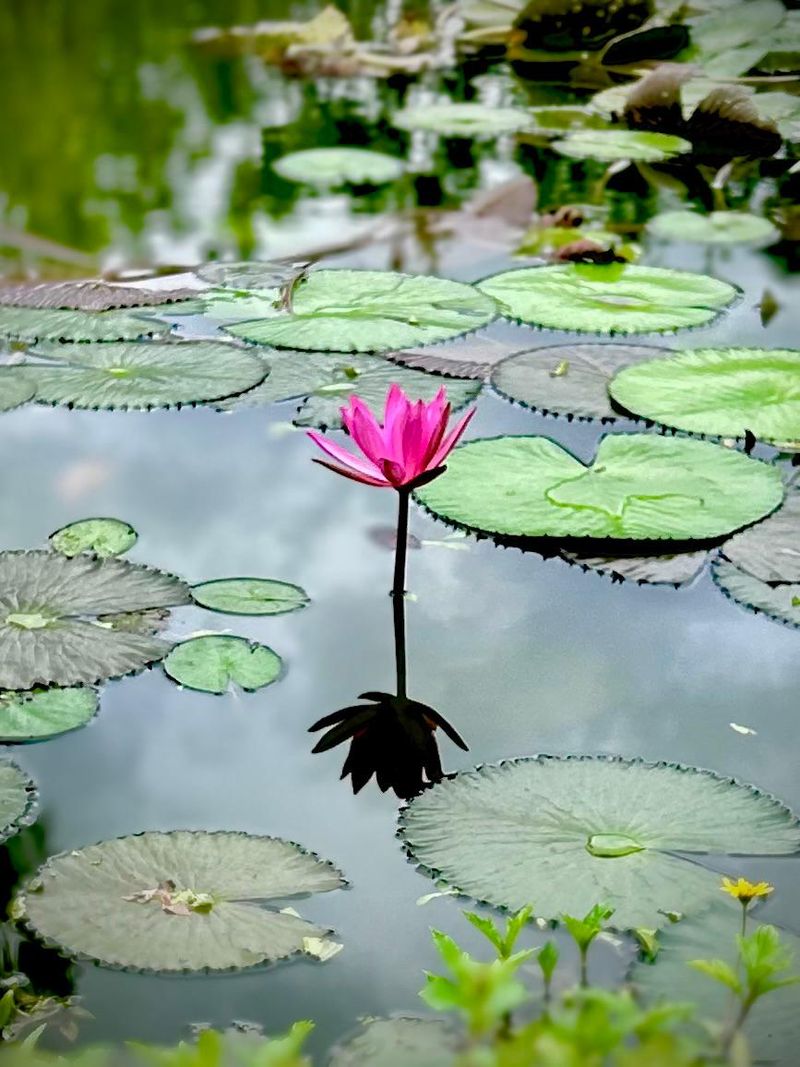
[(623, 417), (608, 396), (608, 384), (617, 371), (670, 354), (670, 349), (644, 345), (532, 348), (498, 364), (492, 385), (509, 400), (546, 415), (614, 423)]

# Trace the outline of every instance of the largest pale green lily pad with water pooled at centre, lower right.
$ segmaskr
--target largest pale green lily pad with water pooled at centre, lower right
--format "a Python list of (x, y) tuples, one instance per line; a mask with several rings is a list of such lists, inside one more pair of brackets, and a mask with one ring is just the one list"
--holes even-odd
[(437, 882), (556, 920), (597, 901), (619, 929), (658, 927), (719, 897), (719, 875), (674, 853), (800, 849), (788, 809), (758, 790), (677, 764), (537, 757), (462, 771), (416, 797), (400, 833)]

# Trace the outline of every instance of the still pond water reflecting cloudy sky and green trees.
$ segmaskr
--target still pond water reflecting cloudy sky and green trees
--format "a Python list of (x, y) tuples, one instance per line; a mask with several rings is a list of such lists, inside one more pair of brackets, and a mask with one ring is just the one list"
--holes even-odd
[[(385, 15), (357, 0), (353, 7), (365, 33)], [(463, 141), (411, 143), (386, 121), (403, 85), (292, 80), (252, 57), (226, 59), (189, 43), (201, 27), (315, 10), (257, 0), (140, 0), (124, 15), (111, 0), (3, 5), (0, 243), (7, 273), (191, 267), (330, 248), (325, 265), (475, 281), (518, 260), (469, 237), (437, 246), (419, 235), (339, 246), (356, 232), (374, 232), (373, 216), (407, 208), (415, 197), (454, 209), (478, 189), (528, 173), (545, 209), (585, 202), (603, 174), (605, 164), (582, 168), (508, 138), (471, 152)], [(423, 82), (409, 92), (477, 94), (493, 105), (525, 95), (503, 68), (487, 74), (476, 65)], [(551, 89), (538, 92), (534, 102), (558, 98)], [(432, 152), (434, 163), (419, 168), (426, 178), (404, 179), (399, 189), (351, 196), (315, 194), (271, 172), (286, 152), (340, 141), (398, 156)], [(612, 179), (605, 194), (618, 220), (644, 221), (687, 198), (683, 186), (626, 180)], [(757, 212), (780, 194), (767, 174), (734, 182), (729, 195), (729, 206)], [(690, 341), (678, 335), (681, 344), (791, 346), (799, 317), (790, 245), (766, 252), (640, 240), (649, 266), (710, 273), (742, 290), (733, 309)], [(758, 310), (765, 289), (779, 305), (767, 324)], [(518, 338), (519, 348), (575, 339), (522, 325), (492, 331)], [(100, 714), (85, 729), (11, 747), (41, 792), (36, 832), (25, 831), (17, 865), (27, 872), (48, 855), (144, 829), (239, 829), (301, 842), (350, 882), (302, 904), (305, 917), (330, 924), (345, 945), (325, 965), (165, 977), (75, 964), (74, 988), (93, 1016), (81, 1024), (81, 1042), (170, 1042), (191, 1023), (234, 1019), (274, 1032), (311, 1018), (311, 1048), (321, 1051), (362, 1016), (419, 1010), (421, 972), (435, 970), (431, 925), (466, 946), (477, 943), (458, 899), (417, 904), (435, 887), (396, 838), (397, 798), (374, 783), (353, 796), (349, 781), (339, 781), (342, 751), (310, 753), (315, 719), (394, 683), (393, 555), (373, 531), (394, 525), (396, 501), (311, 464), (313, 445), (291, 427), (295, 408), (289, 401), (223, 415), (28, 405), (0, 419), (0, 547), (39, 546), (66, 523), (115, 515), (139, 531), (131, 560), (190, 583), (279, 578), (301, 585), (313, 602), (274, 618), (210, 617), (194, 607), (174, 615), (171, 636), (229, 626), (274, 648), (286, 665), (279, 684), (214, 697), (181, 691), (156, 668), (107, 684)], [(489, 387), (477, 408), (469, 436), (541, 433), (586, 461), (602, 433), (595, 424), (512, 405)], [(422, 546), (409, 558), (410, 691), (469, 746), (463, 752), (442, 739), (448, 773), (534, 753), (619, 753), (713, 768), (800, 810), (796, 631), (721, 595), (707, 569), (681, 589), (614, 584), (561, 559), (447, 540), (447, 527), (418, 508), (412, 532)], [(764, 913), (796, 922), (796, 858), (709, 862), (773, 882)], [(619, 981), (631, 958), (626, 946), (603, 945), (596, 976)]]

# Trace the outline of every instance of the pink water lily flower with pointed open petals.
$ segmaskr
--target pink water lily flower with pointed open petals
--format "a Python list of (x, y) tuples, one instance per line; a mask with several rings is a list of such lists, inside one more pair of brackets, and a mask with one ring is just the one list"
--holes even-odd
[(399, 385), (386, 394), (383, 424), (359, 397), (351, 397), (341, 409), (345, 429), (364, 453), (364, 458), (321, 433), (308, 436), (334, 463), (316, 460), (336, 474), (381, 489), (410, 489), (425, 484), (441, 474), (443, 464), (467, 428), (475, 409), (468, 411), (447, 432), (450, 404), (443, 387), (430, 403), (412, 402)]

